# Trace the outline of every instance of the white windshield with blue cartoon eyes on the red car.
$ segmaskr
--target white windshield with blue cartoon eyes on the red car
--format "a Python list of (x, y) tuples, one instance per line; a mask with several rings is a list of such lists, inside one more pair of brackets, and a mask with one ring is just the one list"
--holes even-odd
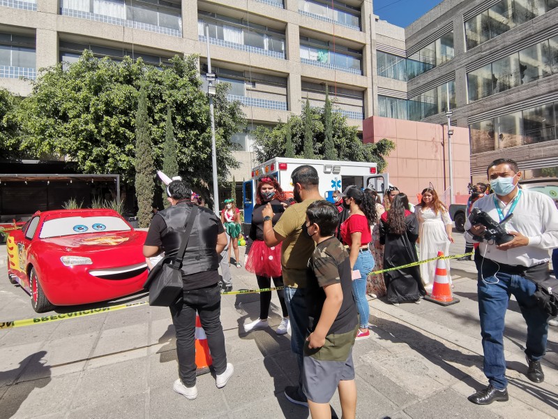
[(129, 231), (130, 226), (117, 216), (68, 216), (43, 223), (39, 237), (60, 237), (75, 234)]

